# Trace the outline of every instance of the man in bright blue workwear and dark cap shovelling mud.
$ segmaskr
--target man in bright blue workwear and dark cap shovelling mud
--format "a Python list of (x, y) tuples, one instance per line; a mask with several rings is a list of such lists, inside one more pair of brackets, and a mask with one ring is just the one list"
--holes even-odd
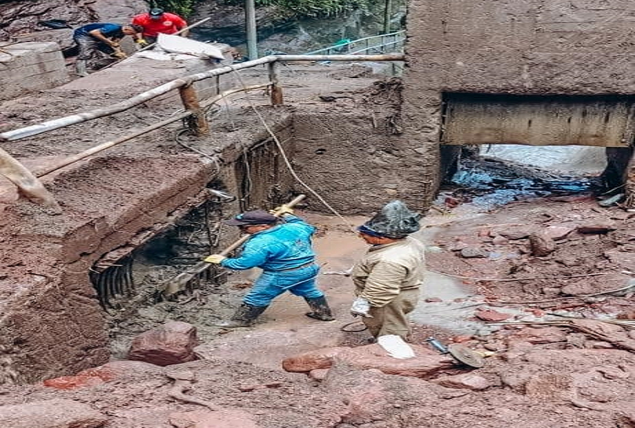
[(212, 254), (205, 261), (235, 271), (259, 267), (262, 274), (232, 318), (217, 323), (218, 327), (250, 327), (271, 301), (286, 291), (306, 300), (311, 308), (306, 316), (320, 321), (335, 319), (324, 293), (315, 286), (320, 269), (311, 246), (315, 227), (293, 215), (293, 210), (284, 205), (276, 208), (276, 212), (282, 216), (282, 223), (266, 211), (247, 211), (224, 220), (251, 237), (238, 257)]

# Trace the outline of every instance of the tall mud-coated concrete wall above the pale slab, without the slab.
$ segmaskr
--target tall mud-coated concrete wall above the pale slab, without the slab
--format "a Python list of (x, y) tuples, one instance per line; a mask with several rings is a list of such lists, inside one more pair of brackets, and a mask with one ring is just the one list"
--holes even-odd
[(436, 156), (444, 92), (633, 94), (629, 11), (628, 0), (411, 1), (405, 136)]

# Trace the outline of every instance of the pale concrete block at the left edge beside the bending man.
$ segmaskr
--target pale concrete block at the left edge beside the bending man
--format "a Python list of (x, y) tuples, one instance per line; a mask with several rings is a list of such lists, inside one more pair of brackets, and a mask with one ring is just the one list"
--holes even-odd
[(37, 90), (55, 88), (68, 81), (64, 57), (57, 43), (26, 42), (0, 50), (0, 100)]

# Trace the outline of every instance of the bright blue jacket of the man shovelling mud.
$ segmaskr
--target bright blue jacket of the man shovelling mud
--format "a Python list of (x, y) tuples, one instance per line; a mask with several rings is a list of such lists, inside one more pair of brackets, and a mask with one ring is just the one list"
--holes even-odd
[(311, 237), (315, 227), (295, 215), (285, 215), (284, 223), (254, 233), (242, 247), (240, 257), (226, 258), (221, 265), (236, 271), (259, 267), (264, 271), (284, 271), (315, 260)]

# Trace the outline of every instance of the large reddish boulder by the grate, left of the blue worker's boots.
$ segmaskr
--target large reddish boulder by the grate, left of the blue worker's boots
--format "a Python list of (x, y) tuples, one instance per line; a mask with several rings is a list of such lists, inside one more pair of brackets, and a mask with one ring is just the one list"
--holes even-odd
[(187, 322), (170, 321), (137, 335), (130, 345), (128, 358), (168, 366), (197, 359), (196, 327)]

